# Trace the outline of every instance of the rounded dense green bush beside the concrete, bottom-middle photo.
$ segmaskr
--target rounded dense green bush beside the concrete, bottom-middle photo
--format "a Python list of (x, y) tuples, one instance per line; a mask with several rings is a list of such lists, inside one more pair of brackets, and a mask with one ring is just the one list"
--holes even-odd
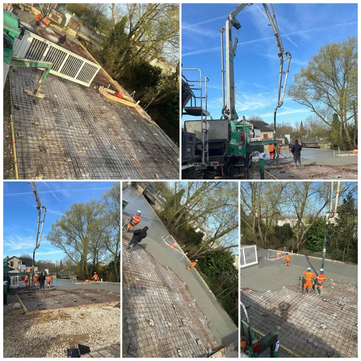
[(234, 268), (234, 255), (230, 251), (210, 252), (201, 263), (200, 268), (209, 277), (218, 277), (222, 272)]

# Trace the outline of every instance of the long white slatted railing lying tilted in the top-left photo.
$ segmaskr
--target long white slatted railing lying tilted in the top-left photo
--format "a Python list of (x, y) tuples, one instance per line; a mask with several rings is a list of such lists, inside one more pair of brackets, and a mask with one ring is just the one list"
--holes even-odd
[(51, 74), (87, 87), (101, 68), (100, 65), (29, 31), (25, 31), (21, 40), (15, 38), (13, 50), (14, 55), (19, 58), (52, 62)]

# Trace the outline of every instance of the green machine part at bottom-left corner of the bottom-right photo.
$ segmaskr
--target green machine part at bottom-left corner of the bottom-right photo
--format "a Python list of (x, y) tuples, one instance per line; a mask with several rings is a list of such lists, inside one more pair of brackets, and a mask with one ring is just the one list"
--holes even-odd
[(249, 322), (247, 310), (242, 302), (240, 302), (243, 307), (246, 320), (245, 321), (241, 316), (241, 337), (247, 342), (247, 347), (243, 349), (243, 352), (250, 357), (259, 357), (262, 352), (266, 349), (270, 349), (270, 357), (278, 357), (278, 334), (276, 330), (269, 332), (261, 339), (257, 340), (255, 337), (255, 331), (253, 331), (251, 323)]

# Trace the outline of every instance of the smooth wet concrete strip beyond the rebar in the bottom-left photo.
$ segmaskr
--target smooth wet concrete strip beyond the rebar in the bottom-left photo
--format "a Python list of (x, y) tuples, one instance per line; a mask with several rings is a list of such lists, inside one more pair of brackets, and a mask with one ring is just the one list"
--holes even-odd
[[(53, 279), (53, 283), (50, 284), (51, 290), (79, 290), (79, 289), (87, 289), (87, 290), (105, 290), (105, 291), (113, 291), (119, 293), (119, 301), (120, 301), (120, 283), (112, 283), (112, 282), (98, 282), (95, 284), (94, 282), (90, 283), (80, 283), (84, 281), (78, 281), (75, 283), (70, 279)], [(19, 281), (20, 288), (25, 288), (24, 281)], [(47, 291), (47, 283), (45, 282), (45, 291)], [(30, 287), (30, 290), (39, 290), (39, 286)]]

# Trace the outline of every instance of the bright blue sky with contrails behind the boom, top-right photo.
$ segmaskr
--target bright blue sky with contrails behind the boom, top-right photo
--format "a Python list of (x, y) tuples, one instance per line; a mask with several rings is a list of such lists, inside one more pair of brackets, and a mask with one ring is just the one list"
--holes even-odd
[[(219, 30), (236, 5), (182, 4), (182, 68), (200, 68), (203, 78), (209, 78), (208, 110), (214, 119), (219, 119), (222, 110)], [(357, 36), (357, 4), (273, 4), (273, 8), (284, 50), (292, 55), (287, 88), (300, 66), (306, 66), (324, 44)], [(240, 118), (258, 114), (271, 123), (279, 77), (274, 32), (262, 4), (246, 6), (236, 18), (242, 26), (234, 58), (236, 111)], [(234, 38), (235, 28), (232, 31)], [(195, 79), (194, 72), (184, 74)], [(293, 125), (312, 114), (285, 95), (277, 122)], [(191, 118), (183, 116), (182, 122)]]

